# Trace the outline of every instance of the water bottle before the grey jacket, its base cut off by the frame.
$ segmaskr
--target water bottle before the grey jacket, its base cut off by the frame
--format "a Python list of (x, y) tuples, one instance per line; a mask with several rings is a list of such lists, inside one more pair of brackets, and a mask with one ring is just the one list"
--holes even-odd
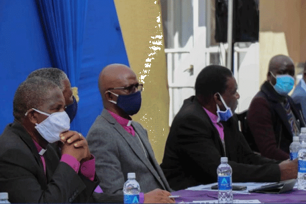
[(139, 203), (140, 186), (135, 179), (135, 173), (127, 173), (127, 181), (123, 186), (124, 203)]

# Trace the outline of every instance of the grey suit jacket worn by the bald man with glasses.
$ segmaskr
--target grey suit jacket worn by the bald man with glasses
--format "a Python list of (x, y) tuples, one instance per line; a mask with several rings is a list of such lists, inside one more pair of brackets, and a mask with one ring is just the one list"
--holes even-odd
[(143, 148), (133, 142), (133, 136), (106, 109), (90, 127), (86, 140), (95, 157), (100, 187), (106, 193), (123, 194), (127, 173), (135, 172), (141, 192), (146, 193), (156, 188), (171, 191), (155, 159), (146, 130), (135, 121), (132, 121), (132, 126), (146, 148), (149, 159)]

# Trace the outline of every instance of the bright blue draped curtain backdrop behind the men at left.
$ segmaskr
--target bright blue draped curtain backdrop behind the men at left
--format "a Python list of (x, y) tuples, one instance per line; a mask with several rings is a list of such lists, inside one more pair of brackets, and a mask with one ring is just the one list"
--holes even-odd
[[(49, 3), (48, 1), (42, 2)], [(0, 114), (2, 115), (0, 133), (3, 132), (6, 124), (13, 121), (12, 101), (17, 86), (27, 78), (31, 71), (55, 66), (67, 73), (72, 86), (79, 88), (80, 101), (76, 116), (79, 122), (77, 126), (72, 124), (71, 130), (87, 135), (91, 124), (103, 109), (97, 87), (99, 72), (111, 63), (129, 65), (113, 0), (90, 0), (87, 7), (84, 6), (84, 1), (79, 1), (80, 5), (70, 5), (70, 14), (64, 13), (64, 10), (69, 7), (69, 1), (57, 2), (65, 5), (62, 8), (53, 8), (53, 11), (58, 11), (56, 15), (72, 16), (72, 13), (78, 10), (79, 12), (70, 18), (71, 22), (78, 18), (76, 17), (78, 15), (83, 19), (86, 16), (83, 31), (80, 30), (81, 25), (70, 25), (71, 36), (69, 39), (68, 36), (62, 38), (63, 42), (70, 43), (69, 45), (64, 43), (65, 46), (62, 48), (64, 49), (63, 55), (66, 55), (65, 67), (68, 67), (67, 59), (71, 60), (69, 63), (74, 63), (74, 66), (70, 66), (67, 70), (56, 66), (55, 62), (57, 63), (56, 60), (59, 59), (48, 52), (51, 51), (51, 44), (47, 42), (49, 37), (44, 35), (48, 31), (45, 30), (47, 27), (41, 23), (42, 13), (38, 7), (41, 8), (42, 5), (38, 0), (0, 1), (0, 70), (2, 71), (0, 75), (2, 90), (0, 94)], [(85, 10), (82, 10), (81, 7)], [(86, 12), (86, 15), (83, 15), (81, 11)], [(49, 13), (49, 10), (47, 12)], [(53, 17), (50, 16), (46, 20), (55, 23)], [(58, 23), (66, 24), (63, 18), (57, 20), (60, 21)], [(59, 28), (56, 27), (56, 29)], [(72, 34), (72, 31), (77, 31), (77, 33)], [(65, 32), (70, 31), (65, 30)], [(74, 36), (81, 35), (81, 32), (83, 32), (83, 39), (82, 36)], [(60, 43), (59, 41), (53, 42)], [(71, 50), (70, 46), (76, 44), (78, 47), (75, 49), (78, 51), (66, 52), (66, 49)], [(80, 48), (82, 46), (83, 48)], [(59, 51), (61, 52), (63, 50)], [(81, 56), (77, 59), (78, 55)], [(77, 66), (78, 63), (79, 66)]]

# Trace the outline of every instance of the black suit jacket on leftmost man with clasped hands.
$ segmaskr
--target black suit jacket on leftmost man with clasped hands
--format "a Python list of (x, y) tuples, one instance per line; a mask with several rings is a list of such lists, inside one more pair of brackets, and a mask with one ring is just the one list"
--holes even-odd
[(31, 136), (19, 122), (0, 136), (0, 192), (10, 202), (87, 202), (98, 184), (60, 162), (60, 151), (49, 144), (44, 154), (46, 175)]

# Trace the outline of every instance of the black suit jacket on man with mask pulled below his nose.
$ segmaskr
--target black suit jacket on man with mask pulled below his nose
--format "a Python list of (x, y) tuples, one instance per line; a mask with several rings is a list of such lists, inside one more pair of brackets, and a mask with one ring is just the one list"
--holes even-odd
[(174, 117), (161, 167), (170, 187), (185, 189), (217, 182), (221, 157), (228, 158), (233, 182), (278, 182), (278, 163), (254, 154), (238, 128), (237, 118), (222, 122), (223, 149), (219, 133), (195, 96), (184, 100)]

